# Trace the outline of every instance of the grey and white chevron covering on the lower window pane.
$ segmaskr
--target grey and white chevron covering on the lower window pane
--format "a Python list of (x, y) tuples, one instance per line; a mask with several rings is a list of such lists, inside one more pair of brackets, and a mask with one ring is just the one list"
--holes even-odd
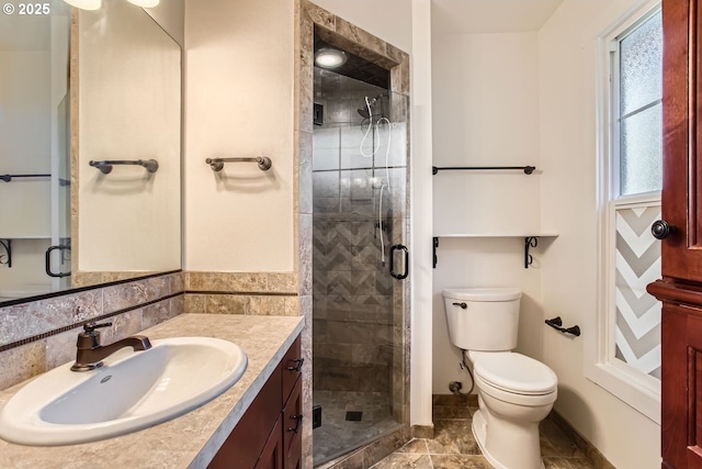
[(660, 379), (660, 302), (646, 286), (660, 278), (660, 243), (650, 225), (660, 204), (616, 210), (616, 358)]

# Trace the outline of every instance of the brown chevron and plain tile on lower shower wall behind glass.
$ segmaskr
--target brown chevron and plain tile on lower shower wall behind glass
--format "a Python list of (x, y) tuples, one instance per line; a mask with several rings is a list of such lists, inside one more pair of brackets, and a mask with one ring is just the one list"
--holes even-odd
[(373, 220), (314, 223), (314, 387), (387, 392), (392, 284)]

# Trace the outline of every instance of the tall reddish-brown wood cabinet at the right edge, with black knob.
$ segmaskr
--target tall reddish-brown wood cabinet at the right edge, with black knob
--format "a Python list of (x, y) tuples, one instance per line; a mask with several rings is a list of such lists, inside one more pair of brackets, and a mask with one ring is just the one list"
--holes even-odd
[(698, 0), (663, 0), (661, 468), (702, 468), (702, 64)]

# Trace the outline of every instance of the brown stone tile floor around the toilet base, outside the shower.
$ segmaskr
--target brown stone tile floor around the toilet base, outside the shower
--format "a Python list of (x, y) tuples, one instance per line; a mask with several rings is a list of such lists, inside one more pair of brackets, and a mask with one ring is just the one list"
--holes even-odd
[[(491, 469), (471, 431), (475, 399), (434, 395), (434, 438), (415, 438), (372, 469)], [(552, 420), (541, 423), (545, 469), (596, 469)]]

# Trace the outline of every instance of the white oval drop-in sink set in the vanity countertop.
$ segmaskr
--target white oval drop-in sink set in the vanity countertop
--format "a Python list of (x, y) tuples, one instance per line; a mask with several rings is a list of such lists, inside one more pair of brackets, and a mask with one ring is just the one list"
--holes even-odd
[(57, 446), (105, 439), (166, 422), (211, 401), (241, 378), (247, 356), (210, 337), (123, 348), (92, 371), (66, 364), (18, 391), (0, 411), (0, 437)]

